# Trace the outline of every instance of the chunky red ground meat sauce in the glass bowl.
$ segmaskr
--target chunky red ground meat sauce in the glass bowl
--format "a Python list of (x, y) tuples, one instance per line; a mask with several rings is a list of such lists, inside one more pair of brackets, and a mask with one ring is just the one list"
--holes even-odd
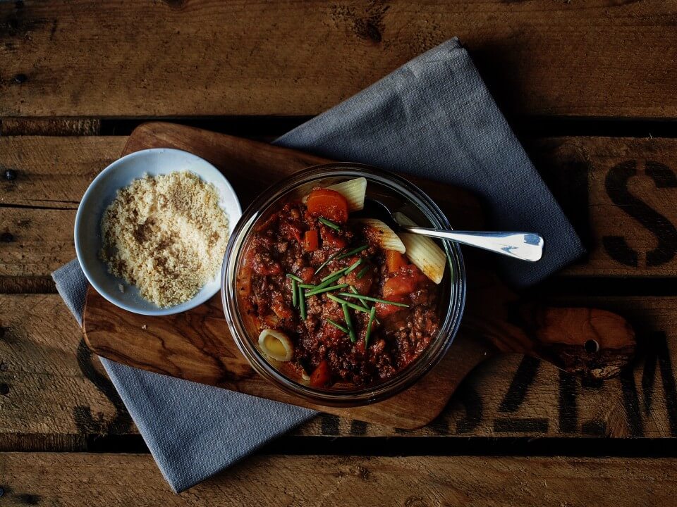
[[(280, 330), (293, 342), (293, 359), (281, 367), (286, 375), (301, 377), (307, 373), (310, 384), (322, 387), (365, 386), (392, 377), (414, 361), (439, 330), (437, 285), (402, 254), (384, 251), (372, 228), (348, 220), (341, 209), (325, 207), (320, 217), (309, 211), (310, 204), (289, 202), (257, 229), (240, 273), (240, 305), (259, 330)], [(340, 225), (339, 230), (320, 218), (333, 220), (332, 225)], [(364, 245), (368, 245), (366, 249), (338, 258)], [(327, 263), (332, 256), (334, 259)], [(389, 257), (395, 261), (389, 261)], [(331, 284), (348, 287), (307, 296), (307, 316), (301, 318), (299, 308), (293, 305), (294, 282), (287, 274), (304, 284), (317, 285), (323, 277), (360, 259), (358, 268)], [(326, 265), (318, 271), (323, 263)], [(408, 307), (338, 295), (351, 291)], [(355, 331), (353, 343), (348, 333), (329, 323), (331, 319), (347, 327), (343, 306), (329, 294), (364, 308), (376, 307), (366, 346), (370, 313), (349, 309)]]

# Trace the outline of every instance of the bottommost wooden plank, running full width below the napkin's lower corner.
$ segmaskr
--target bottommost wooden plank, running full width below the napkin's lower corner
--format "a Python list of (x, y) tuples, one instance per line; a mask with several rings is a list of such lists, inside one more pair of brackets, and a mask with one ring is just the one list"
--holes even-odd
[[(671, 505), (674, 458), (253, 456), (179, 496), (150, 455), (1, 453), (10, 505)], [(5, 498), (3, 498), (5, 500)]]

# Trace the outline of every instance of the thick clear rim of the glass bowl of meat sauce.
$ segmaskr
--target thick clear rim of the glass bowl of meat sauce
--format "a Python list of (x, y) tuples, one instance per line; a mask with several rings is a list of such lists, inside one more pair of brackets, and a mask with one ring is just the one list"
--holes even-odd
[[(341, 171), (343, 169), (343, 171)], [(321, 175), (323, 171), (330, 171), (331, 173), (327, 175)], [(345, 174), (350, 173), (353, 174)], [(338, 173), (338, 174), (332, 174)], [(342, 174), (343, 173), (343, 174)], [(359, 173), (359, 174), (358, 174)], [(317, 177), (312, 177), (317, 176)], [(372, 180), (376, 180), (377, 183), (383, 184), (383, 181), (379, 181), (378, 178), (386, 180), (389, 184), (394, 184), (397, 187), (401, 187), (408, 192), (408, 194), (413, 194), (416, 199), (422, 202), (424, 206), (427, 206), (428, 209), (423, 210), (420, 208), (419, 204), (411, 201), (410, 204), (416, 206), (420, 209), (422, 213), (429, 220), (437, 220), (437, 224), (440, 227), (449, 227), (449, 220), (446, 218), (446, 215), (439, 209), (439, 206), (417, 185), (406, 180), (404, 177), (396, 173), (391, 173), (386, 170), (375, 168), (371, 165), (365, 165), (360, 163), (327, 163), (320, 165), (312, 165), (304, 170), (300, 170), (292, 175), (283, 178), (282, 180), (272, 184), (267, 189), (257, 196), (257, 198), (245, 209), (242, 219), (236, 226), (236, 228), (231, 233), (231, 237), (228, 240), (228, 247), (226, 249), (226, 255), (224, 256), (224, 263), (221, 269), (221, 301), (224, 306), (224, 314), (226, 316), (226, 321), (228, 322), (228, 328), (231, 331), (233, 340), (236, 342), (238, 349), (243, 356), (247, 358), (248, 362), (252, 368), (257, 371), (262, 377), (266, 378), (269, 382), (274, 384), (274, 386), (282, 389), (288, 394), (297, 396), (300, 399), (305, 399), (311, 403), (317, 405), (325, 406), (362, 406), (369, 403), (377, 403), (379, 401), (384, 401), (399, 392), (402, 392), (404, 389), (411, 387), (415, 382), (420, 380), (422, 377), (427, 375), (430, 370), (441, 361), (446, 353), (449, 351), (449, 346), (451, 346), (453, 339), (456, 337), (458, 329), (461, 327), (461, 318), (463, 317), (463, 311), (465, 309), (465, 288), (466, 288), (466, 277), (465, 277), (465, 264), (463, 262), (463, 254), (461, 253), (461, 247), (456, 243), (451, 243), (446, 240), (441, 240), (441, 243), (444, 244), (446, 249), (450, 273), (447, 276), (453, 276), (451, 280), (449, 308), (446, 310), (446, 315), (444, 316), (444, 322), (441, 326), (437, 337), (441, 337), (443, 332), (448, 332), (449, 335), (446, 339), (443, 339), (441, 348), (438, 347), (437, 354), (433, 353), (434, 350), (432, 346), (428, 346), (426, 350), (408, 365), (403, 370), (399, 371), (391, 377), (390, 379), (376, 384), (361, 387), (358, 389), (351, 389), (346, 391), (339, 391), (337, 389), (317, 389), (305, 384), (301, 384), (293, 380), (287, 375), (280, 373), (274, 365), (269, 363), (269, 361), (264, 358), (262, 352), (258, 350), (255, 342), (256, 339), (248, 336), (245, 326), (243, 325), (240, 313), (238, 312), (238, 303), (236, 296), (236, 273), (235, 270), (240, 265), (240, 257), (243, 252), (243, 244), (245, 239), (250, 234), (252, 227), (258, 223), (264, 213), (269, 211), (269, 209), (279, 202), (280, 199), (283, 199), (284, 196), (287, 196), (289, 193), (293, 192), (296, 187), (300, 184), (312, 183), (315, 180), (322, 180), (326, 177), (367, 177), (367, 181), (370, 177)], [(310, 180), (307, 180), (310, 178)], [(409, 197), (407, 197), (409, 199)], [(432, 216), (431, 217), (431, 212)], [(232, 282), (232, 283), (231, 283)], [(442, 306), (442, 308), (445, 308)], [(236, 318), (235, 318), (236, 317)], [(242, 337), (245, 339), (242, 339)], [(437, 338), (436, 337), (436, 338)], [(415, 374), (412, 375), (413, 367), (417, 365), (418, 370), (415, 371)], [(403, 375), (407, 373), (408, 375)]]

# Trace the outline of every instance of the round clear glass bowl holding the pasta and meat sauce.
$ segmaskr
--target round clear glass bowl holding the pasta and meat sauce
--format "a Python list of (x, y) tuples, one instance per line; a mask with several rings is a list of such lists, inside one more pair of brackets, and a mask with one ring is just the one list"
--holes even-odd
[(326, 187), (355, 177), (367, 179), (367, 197), (398, 204), (398, 211), (405, 212), (423, 227), (451, 229), (444, 213), (432, 199), (403, 177), (354, 163), (316, 165), (265, 189), (245, 210), (231, 234), (221, 273), (221, 298), (228, 327), (252, 368), (283, 391), (318, 405), (366, 405), (383, 401), (410, 387), (428, 373), (449, 350), (461, 324), (465, 304), (465, 270), (461, 249), (458, 244), (442, 241), (440, 244), (446, 250), (449, 269), (445, 270), (444, 280), (441, 282), (442, 296), (439, 298), (438, 308), (441, 317), (440, 330), (427, 349), (403, 370), (387, 380), (368, 386), (318, 388), (287, 377), (276, 368), (274, 361), (264, 356), (257, 344), (259, 330), (248, 322), (245, 312), (240, 311), (236, 294), (237, 275), (252, 231), (288, 199), (299, 199), (315, 187)]

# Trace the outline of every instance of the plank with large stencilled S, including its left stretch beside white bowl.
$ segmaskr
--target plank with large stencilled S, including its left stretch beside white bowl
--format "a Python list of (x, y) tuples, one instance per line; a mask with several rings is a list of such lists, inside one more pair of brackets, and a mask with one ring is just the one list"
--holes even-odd
[[(66, 210), (2, 209), (0, 234), (17, 239), (0, 243), (0, 274), (49, 275), (73, 258), (72, 209), (125, 142), (0, 137), (0, 206)], [(677, 208), (671, 203), (677, 199), (677, 139), (565, 137), (537, 139), (527, 148), (590, 251), (566, 275), (676, 275)], [(15, 180), (2, 178), (6, 169), (16, 172)], [(40, 244), (49, 255), (27, 253), (29, 244)], [(22, 255), (29, 260), (17, 263)]]

